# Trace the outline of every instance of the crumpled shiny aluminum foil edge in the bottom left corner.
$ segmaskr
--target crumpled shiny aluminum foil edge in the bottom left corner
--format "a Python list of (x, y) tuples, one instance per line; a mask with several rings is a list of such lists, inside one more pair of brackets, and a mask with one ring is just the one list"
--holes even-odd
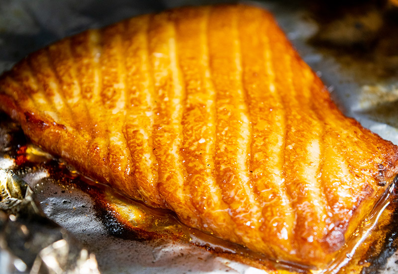
[[(65, 229), (48, 219), (33, 190), (0, 169), (0, 273), (99, 274), (97, 260)], [(2, 262), (3, 263), (3, 262)]]

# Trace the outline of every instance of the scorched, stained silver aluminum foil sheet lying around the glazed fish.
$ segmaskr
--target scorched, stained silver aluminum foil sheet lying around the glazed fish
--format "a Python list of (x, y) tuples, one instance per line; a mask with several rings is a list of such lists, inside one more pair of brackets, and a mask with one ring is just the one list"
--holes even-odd
[[(28, 53), (85, 29), (146, 12), (210, 2), (215, 1), (0, 0), (0, 72), (11, 68)], [(395, 0), (390, 3), (372, 0), (355, 5), (348, 3), (343, 8), (330, 2), (334, 1), (264, 0), (249, 3), (264, 6), (274, 13), (301, 57), (321, 77), (347, 116), (398, 144), (398, 11)], [(68, 263), (68, 270), (87, 267), (84, 269), (87, 273), (89, 270), (102, 274), (264, 273), (181, 241), (126, 237), (115, 218), (99, 214), (87, 188), (84, 191), (76, 184), (60, 183), (59, 174), (54, 177), (48, 171), (46, 163), (53, 161), (51, 156), (37, 150), (28, 166), (21, 165), (22, 150), (26, 149), (22, 147), (21, 150), (23, 144), (26, 140), (17, 126), (0, 115), (0, 170), (3, 170), (0, 174), (10, 176), (10, 170), (15, 170), (19, 179), (23, 179), (36, 194), (35, 210), (39, 212), (41, 207), (44, 215), (62, 229), (51, 222), (50, 227), (54, 226), (58, 231), (54, 235), (59, 238), (45, 246), (47, 240), (39, 241), (43, 246), (37, 249), (29, 263), (1, 244), (0, 266), (5, 269), (0, 272), (32, 270), (32, 273), (41, 273), (41, 267), (49, 269), (51, 262), (70, 262), (69, 259), (65, 261), (65, 254), (75, 250), (75, 259)], [(22, 152), (18, 155), (12, 151)], [(58, 168), (62, 171), (65, 167)], [(4, 222), (15, 224), (9, 217), (15, 214), (4, 214), (0, 211), (1, 227)], [(40, 213), (39, 216), (39, 219), (44, 218)], [(69, 236), (65, 236), (66, 233)], [(69, 244), (70, 237), (80, 244)], [(81, 244), (87, 250), (76, 249)], [(93, 254), (98, 269), (94, 267)], [(396, 273), (397, 260), (398, 253), (384, 266), (378, 266), (377, 271)], [(59, 273), (59, 270), (48, 270), (48, 273)]]

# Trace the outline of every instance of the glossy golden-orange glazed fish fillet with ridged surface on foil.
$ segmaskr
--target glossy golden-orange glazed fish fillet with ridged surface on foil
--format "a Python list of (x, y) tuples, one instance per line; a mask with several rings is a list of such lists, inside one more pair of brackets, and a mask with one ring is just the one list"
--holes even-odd
[(273, 260), (322, 268), (398, 173), (267, 11), (186, 7), (88, 30), (0, 79), (0, 107), (81, 173)]

